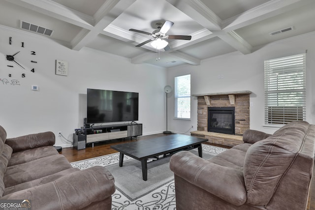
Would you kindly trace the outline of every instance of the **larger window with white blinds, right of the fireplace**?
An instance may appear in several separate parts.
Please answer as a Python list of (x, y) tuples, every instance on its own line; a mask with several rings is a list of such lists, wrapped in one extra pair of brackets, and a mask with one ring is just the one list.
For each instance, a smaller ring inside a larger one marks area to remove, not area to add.
[(306, 118), (306, 55), (265, 60), (265, 124)]

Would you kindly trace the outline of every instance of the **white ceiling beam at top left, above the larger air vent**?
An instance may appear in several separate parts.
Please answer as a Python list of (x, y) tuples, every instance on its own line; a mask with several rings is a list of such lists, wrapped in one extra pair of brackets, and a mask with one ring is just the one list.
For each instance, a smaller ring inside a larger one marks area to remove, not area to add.
[(52, 0), (7, 0), (58, 20), (92, 30), (94, 18)]

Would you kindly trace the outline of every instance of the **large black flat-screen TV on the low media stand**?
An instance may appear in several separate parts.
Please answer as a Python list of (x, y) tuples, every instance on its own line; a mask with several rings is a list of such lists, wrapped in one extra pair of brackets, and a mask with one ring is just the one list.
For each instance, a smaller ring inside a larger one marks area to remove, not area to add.
[(88, 89), (87, 123), (138, 120), (138, 104), (138, 92)]

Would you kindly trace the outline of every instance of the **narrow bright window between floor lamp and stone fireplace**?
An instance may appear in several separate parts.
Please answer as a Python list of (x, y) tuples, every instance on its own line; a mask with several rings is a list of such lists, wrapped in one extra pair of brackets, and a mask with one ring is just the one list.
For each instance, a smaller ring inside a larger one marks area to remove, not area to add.
[(175, 118), (190, 119), (190, 74), (175, 77)]

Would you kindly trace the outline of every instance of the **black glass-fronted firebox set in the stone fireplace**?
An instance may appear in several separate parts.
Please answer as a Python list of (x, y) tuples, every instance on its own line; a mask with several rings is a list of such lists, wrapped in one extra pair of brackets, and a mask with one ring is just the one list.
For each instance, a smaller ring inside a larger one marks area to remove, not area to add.
[(208, 107), (208, 132), (235, 134), (235, 107)]

